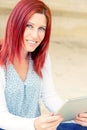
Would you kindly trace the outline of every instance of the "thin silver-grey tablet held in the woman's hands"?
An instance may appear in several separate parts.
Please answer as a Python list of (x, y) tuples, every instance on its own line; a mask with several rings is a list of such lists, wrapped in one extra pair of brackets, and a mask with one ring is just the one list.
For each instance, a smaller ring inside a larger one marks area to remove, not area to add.
[(66, 100), (57, 114), (61, 114), (64, 121), (69, 121), (82, 112), (87, 112), (87, 97)]

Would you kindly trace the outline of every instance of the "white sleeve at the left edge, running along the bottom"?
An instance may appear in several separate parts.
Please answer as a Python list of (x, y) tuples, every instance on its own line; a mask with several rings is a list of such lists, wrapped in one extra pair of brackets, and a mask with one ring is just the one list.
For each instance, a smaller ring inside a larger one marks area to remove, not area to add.
[(0, 128), (5, 130), (35, 130), (35, 118), (22, 118), (9, 113), (5, 95), (5, 75), (4, 70), (0, 67)]

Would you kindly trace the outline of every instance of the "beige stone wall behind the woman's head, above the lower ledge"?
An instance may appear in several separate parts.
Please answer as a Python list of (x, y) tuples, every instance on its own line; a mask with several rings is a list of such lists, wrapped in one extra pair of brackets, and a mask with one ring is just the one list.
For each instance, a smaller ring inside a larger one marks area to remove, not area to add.
[[(0, 38), (11, 9), (18, 0), (0, 0)], [(87, 41), (87, 0), (43, 0), (52, 10), (52, 40), (58, 42)]]

